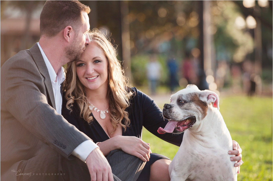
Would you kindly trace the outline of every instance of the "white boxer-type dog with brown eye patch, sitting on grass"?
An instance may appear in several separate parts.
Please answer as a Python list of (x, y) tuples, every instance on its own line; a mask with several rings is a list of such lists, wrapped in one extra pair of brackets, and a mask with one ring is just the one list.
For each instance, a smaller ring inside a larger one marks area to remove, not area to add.
[(236, 181), (238, 167), (230, 161), (232, 139), (219, 112), (216, 93), (196, 85), (171, 96), (163, 116), (170, 121), (158, 133), (185, 131), (179, 150), (169, 165), (171, 181)]

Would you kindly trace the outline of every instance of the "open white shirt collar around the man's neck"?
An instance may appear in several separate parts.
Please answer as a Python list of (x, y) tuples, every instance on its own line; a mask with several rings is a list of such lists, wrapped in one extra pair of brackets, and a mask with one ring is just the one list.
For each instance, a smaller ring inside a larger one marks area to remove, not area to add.
[(44, 54), (44, 51), (43, 51), (43, 49), (41, 48), (39, 42), (38, 42), (38, 47), (39, 47), (39, 49), (40, 49), (40, 51), (41, 51), (41, 54), (42, 54), (42, 56), (43, 56), (44, 63), (46, 63), (46, 68), (48, 69), (48, 73), (49, 73), (49, 76), (50, 76), (51, 81), (54, 81), (54, 82), (55, 82), (56, 77), (57, 77), (57, 81), (61, 84), (61, 83), (64, 81), (64, 79), (65, 79), (63, 67), (61, 67), (61, 68), (58, 70), (57, 75), (56, 75), (56, 73), (55, 73), (55, 71), (54, 71), (54, 69), (53, 69), (51, 63), (49, 62), (48, 58), (46, 57), (46, 54)]

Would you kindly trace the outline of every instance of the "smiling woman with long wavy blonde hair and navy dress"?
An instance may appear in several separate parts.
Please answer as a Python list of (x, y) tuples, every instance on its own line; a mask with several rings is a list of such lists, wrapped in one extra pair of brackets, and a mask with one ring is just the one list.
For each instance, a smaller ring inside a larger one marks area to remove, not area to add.
[[(141, 140), (144, 126), (154, 135), (180, 146), (183, 134), (158, 134), (167, 121), (160, 108), (146, 94), (126, 84), (124, 71), (110, 41), (98, 30), (90, 33), (90, 45), (80, 60), (67, 64), (63, 116), (89, 136), (104, 155), (121, 149), (148, 161), (139, 180), (170, 180), (170, 159), (152, 154)], [(241, 149), (232, 151), (241, 160)], [(238, 165), (241, 165), (238, 162)]]

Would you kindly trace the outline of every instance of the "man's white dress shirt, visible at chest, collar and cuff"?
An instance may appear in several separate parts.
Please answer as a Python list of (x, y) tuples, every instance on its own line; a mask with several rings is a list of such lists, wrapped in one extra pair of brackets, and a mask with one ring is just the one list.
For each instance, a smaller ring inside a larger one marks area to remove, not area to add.
[[(46, 57), (46, 54), (44, 53), (43, 49), (41, 48), (39, 42), (38, 42), (38, 47), (40, 48), (41, 54), (43, 56), (44, 62), (46, 63), (46, 67), (49, 72), (49, 76), (51, 79), (51, 84), (52, 84), (52, 89), (54, 93), (54, 99), (55, 99), (55, 106), (56, 106), (56, 111), (58, 114), (62, 113), (62, 95), (61, 95), (61, 83), (63, 83), (65, 77), (64, 77), (64, 69), (61, 67), (57, 74), (54, 71), (51, 63), (49, 62), (48, 58)], [(93, 141), (91, 140), (86, 140), (79, 144), (72, 152), (72, 155), (78, 157), (82, 161), (85, 161), (87, 156), (95, 149), (99, 148)]]

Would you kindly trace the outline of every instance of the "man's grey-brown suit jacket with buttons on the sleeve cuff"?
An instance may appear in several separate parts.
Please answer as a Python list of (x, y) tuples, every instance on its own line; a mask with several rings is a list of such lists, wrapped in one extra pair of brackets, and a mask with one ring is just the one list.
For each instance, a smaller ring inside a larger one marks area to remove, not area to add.
[(11, 170), (48, 146), (70, 159), (80, 143), (91, 140), (56, 112), (48, 69), (37, 43), (8, 59), (0, 78), (1, 179), (16, 180)]

